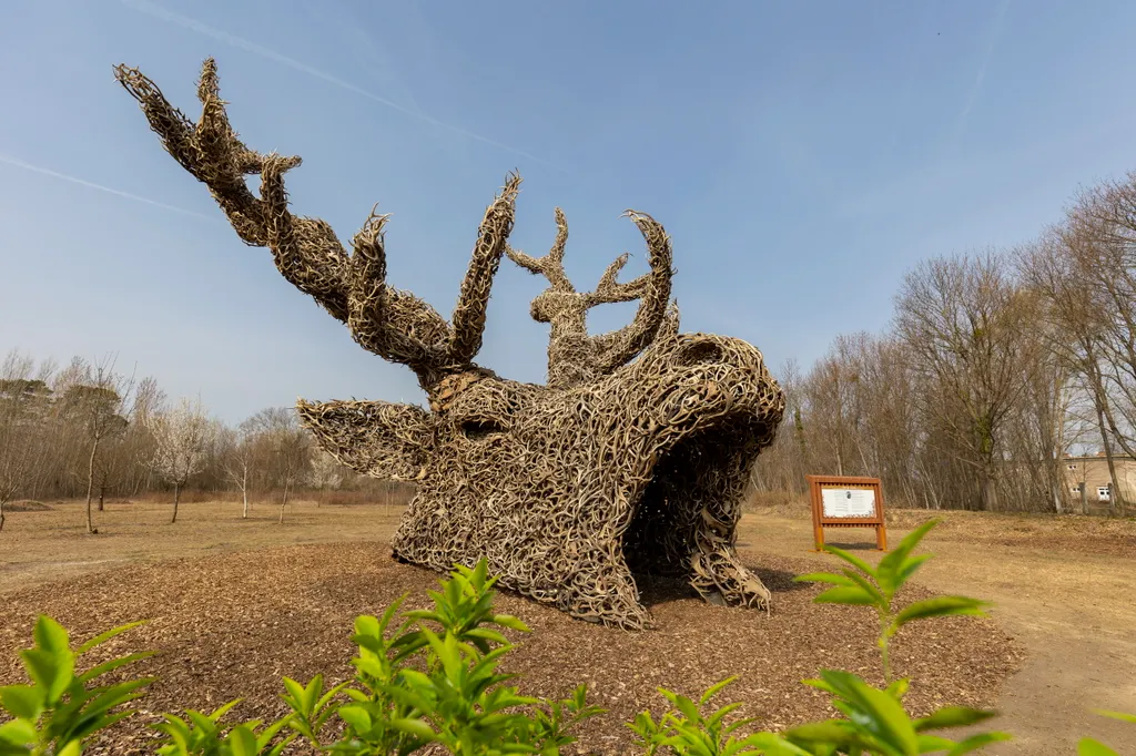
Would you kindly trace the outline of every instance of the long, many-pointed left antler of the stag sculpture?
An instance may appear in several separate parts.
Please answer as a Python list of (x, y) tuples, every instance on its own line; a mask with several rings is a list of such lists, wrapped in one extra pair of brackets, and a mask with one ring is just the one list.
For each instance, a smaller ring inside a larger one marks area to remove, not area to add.
[[(425, 301), (386, 284), (387, 216), (371, 211), (349, 257), (327, 222), (289, 212), (284, 174), (299, 166), (300, 158), (261, 154), (241, 142), (228, 123), (212, 58), (201, 68), (197, 124), (136, 68), (116, 66), (115, 77), (139, 101), (166, 151), (209, 187), (241, 240), (269, 247), (284, 278), (345, 322), (364, 348), (409, 366), (426, 389), (446, 373), (473, 367), (490, 287), (512, 230), (519, 176), (510, 174), (485, 211), (451, 325)], [(259, 198), (244, 183), (250, 174), (260, 174)]]

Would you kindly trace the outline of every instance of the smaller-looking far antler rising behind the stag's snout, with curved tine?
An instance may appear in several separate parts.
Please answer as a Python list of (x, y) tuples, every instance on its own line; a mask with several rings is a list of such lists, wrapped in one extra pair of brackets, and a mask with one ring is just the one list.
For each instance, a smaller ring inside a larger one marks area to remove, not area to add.
[[(557, 208), (557, 241), (543, 258), (532, 258), (508, 249), (509, 259), (533, 274), (542, 274), (550, 287), (533, 300), (533, 318), (551, 322), (549, 337), (549, 385), (566, 388), (610, 373), (642, 352), (665, 326), (667, 333), (678, 329), (678, 309), (668, 310), (674, 270), (670, 238), (662, 225), (651, 216), (628, 210), (646, 241), (651, 271), (620, 284), (619, 272), (628, 254), (619, 255), (600, 277), (594, 292), (576, 292), (565, 274), (563, 255), (568, 241), (568, 222)], [(635, 319), (624, 328), (601, 336), (588, 336), (587, 311), (599, 304), (640, 300)]]

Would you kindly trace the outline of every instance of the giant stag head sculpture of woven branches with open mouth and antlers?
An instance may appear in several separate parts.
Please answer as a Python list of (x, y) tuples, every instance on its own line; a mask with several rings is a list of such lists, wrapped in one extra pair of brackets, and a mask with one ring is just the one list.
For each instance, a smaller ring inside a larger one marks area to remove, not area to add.
[[(396, 558), (445, 571), (484, 556), (503, 587), (628, 629), (651, 624), (636, 576), (678, 577), (707, 600), (768, 607), (769, 591), (734, 543), (750, 468), (772, 442), (784, 396), (750, 344), (678, 333), (671, 246), (660, 224), (627, 213), (646, 242), (650, 272), (619, 283), (624, 255), (594, 292), (577, 292), (565, 275), (568, 229), (559, 209), (549, 254), (509, 246), (520, 186), (510, 175), (485, 211), (448, 322), (386, 283), (385, 216), (371, 211), (349, 254), (326, 222), (290, 212), (284, 174), (300, 158), (261, 154), (240, 141), (212, 59), (201, 73), (197, 124), (136, 69), (115, 73), (241, 240), (267, 246), (284, 278), (360, 346), (417, 375), (428, 410), (298, 402), (340, 462), (417, 484), (392, 539)], [(245, 184), (252, 174), (259, 196)], [(532, 304), (532, 316), (551, 325), (546, 386), (474, 363), (504, 257), (549, 282)], [(590, 308), (636, 300), (630, 325), (588, 335)]]

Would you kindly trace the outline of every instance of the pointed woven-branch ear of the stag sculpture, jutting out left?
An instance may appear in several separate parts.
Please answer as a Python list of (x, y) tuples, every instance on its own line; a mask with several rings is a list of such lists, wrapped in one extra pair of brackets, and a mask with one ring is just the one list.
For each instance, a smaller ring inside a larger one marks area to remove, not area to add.
[(303, 425), (341, 464), (373, 478), (420, 480), (434, 451), (434, 421), (414, 404), (296, 402)]

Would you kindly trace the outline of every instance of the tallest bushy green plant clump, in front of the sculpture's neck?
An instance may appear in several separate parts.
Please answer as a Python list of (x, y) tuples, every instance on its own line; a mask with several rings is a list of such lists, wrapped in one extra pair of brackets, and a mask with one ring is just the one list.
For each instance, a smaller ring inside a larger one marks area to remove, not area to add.
[[(586, 688), (548, 702), (521, 696), (506, 684), (513, 675), (498, 671), (513, 646), (495, 628), (528, 628), (493, 612), (495, 582), (484, 561), (457, 568), (441, 591), (429, 591), (434, 608), (403, 613), (391, 639), (403, 599), (382, 618), (356, 620), (358, 687), (344, 689), (351, 703), (337, 713), (348, 733), (333, 750), (408, 754), (440, 742), (453, 754), (557, 753), (575, 740), (569, 729), (601, 711), (587, 705)], [(419, 669), (407, 664), (412, 656)]]

